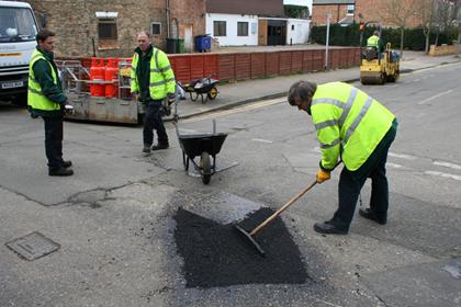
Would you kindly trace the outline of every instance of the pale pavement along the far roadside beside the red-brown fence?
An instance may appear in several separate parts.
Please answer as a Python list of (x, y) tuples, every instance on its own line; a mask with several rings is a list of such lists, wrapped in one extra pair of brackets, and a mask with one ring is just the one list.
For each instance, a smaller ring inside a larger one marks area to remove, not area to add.
[[(405, 50), (403, 58), (401, 59), (401, 73), (411, 73), (416, 70), (458, 61), (461, 61), (461, 57), (454, 55), (431, 57), (424, 52)], [(353, 82), (360, 80), (359, 73), (359, 68), (352, 67), (223, 83), (217, 87), (218, 94), (215, 100), (209, 100), (202, 103), (199, 98), (198, 101), (194, 102), (191, 101), (188, 95), (187, 100), (179, 101), (178, 114), (180, 118), (188, 118), (216, 110), (232, 109), (259, 100), (286, 96), (290, 86), (299, 80), (307, 80), (316, 83), (333, 81)], [(171, 116), (167, 117), (166, 121), (171, 121)]]

